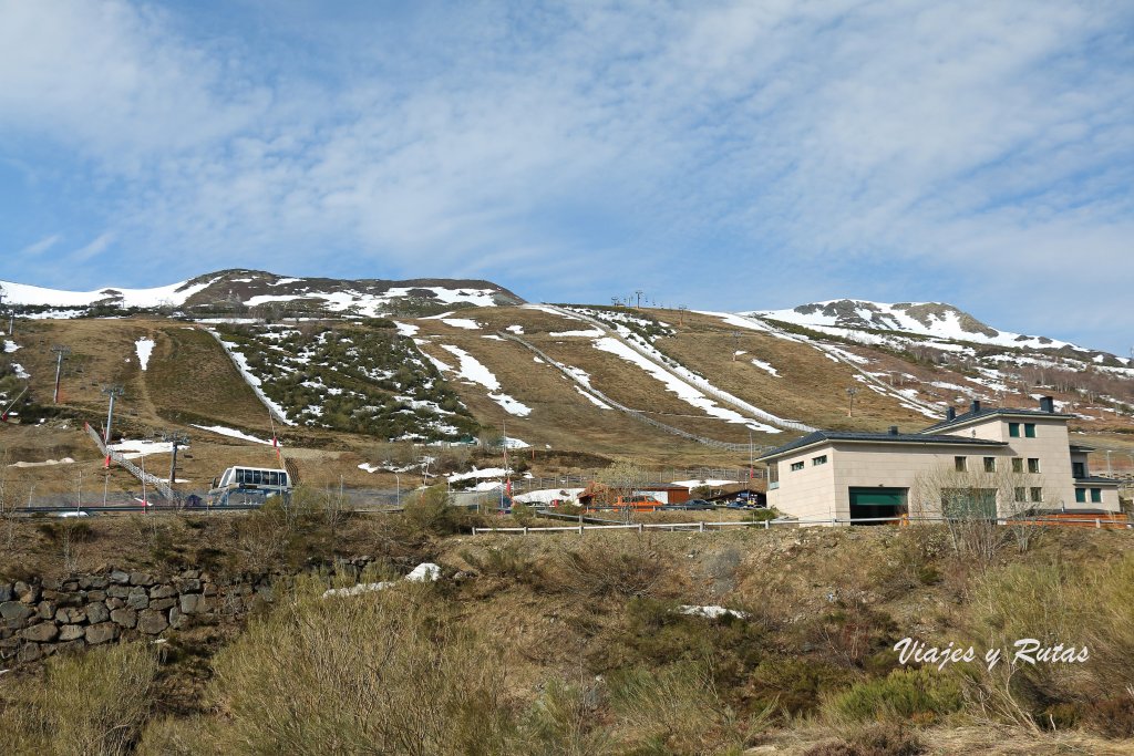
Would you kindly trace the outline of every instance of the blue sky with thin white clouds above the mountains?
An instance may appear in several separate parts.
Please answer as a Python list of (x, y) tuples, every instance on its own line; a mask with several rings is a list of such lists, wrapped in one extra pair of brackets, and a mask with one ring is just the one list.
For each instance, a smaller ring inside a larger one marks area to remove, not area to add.
[(1132, 37), (1105, 0), (0, 0), (0, 279), (943, 300), (1126, 354)]

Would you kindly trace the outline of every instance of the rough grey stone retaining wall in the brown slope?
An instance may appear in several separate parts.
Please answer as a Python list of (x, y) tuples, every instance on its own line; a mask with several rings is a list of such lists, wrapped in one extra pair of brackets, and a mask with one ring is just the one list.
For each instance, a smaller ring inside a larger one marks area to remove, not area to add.
[(229, 580), (201, 570), (159, 577), (118, 569), (0, 580), (0, 661), (32, 662), (59, 651), (238, 620), (256, 602), (271, 601), (272, 580), (271, 575)]

